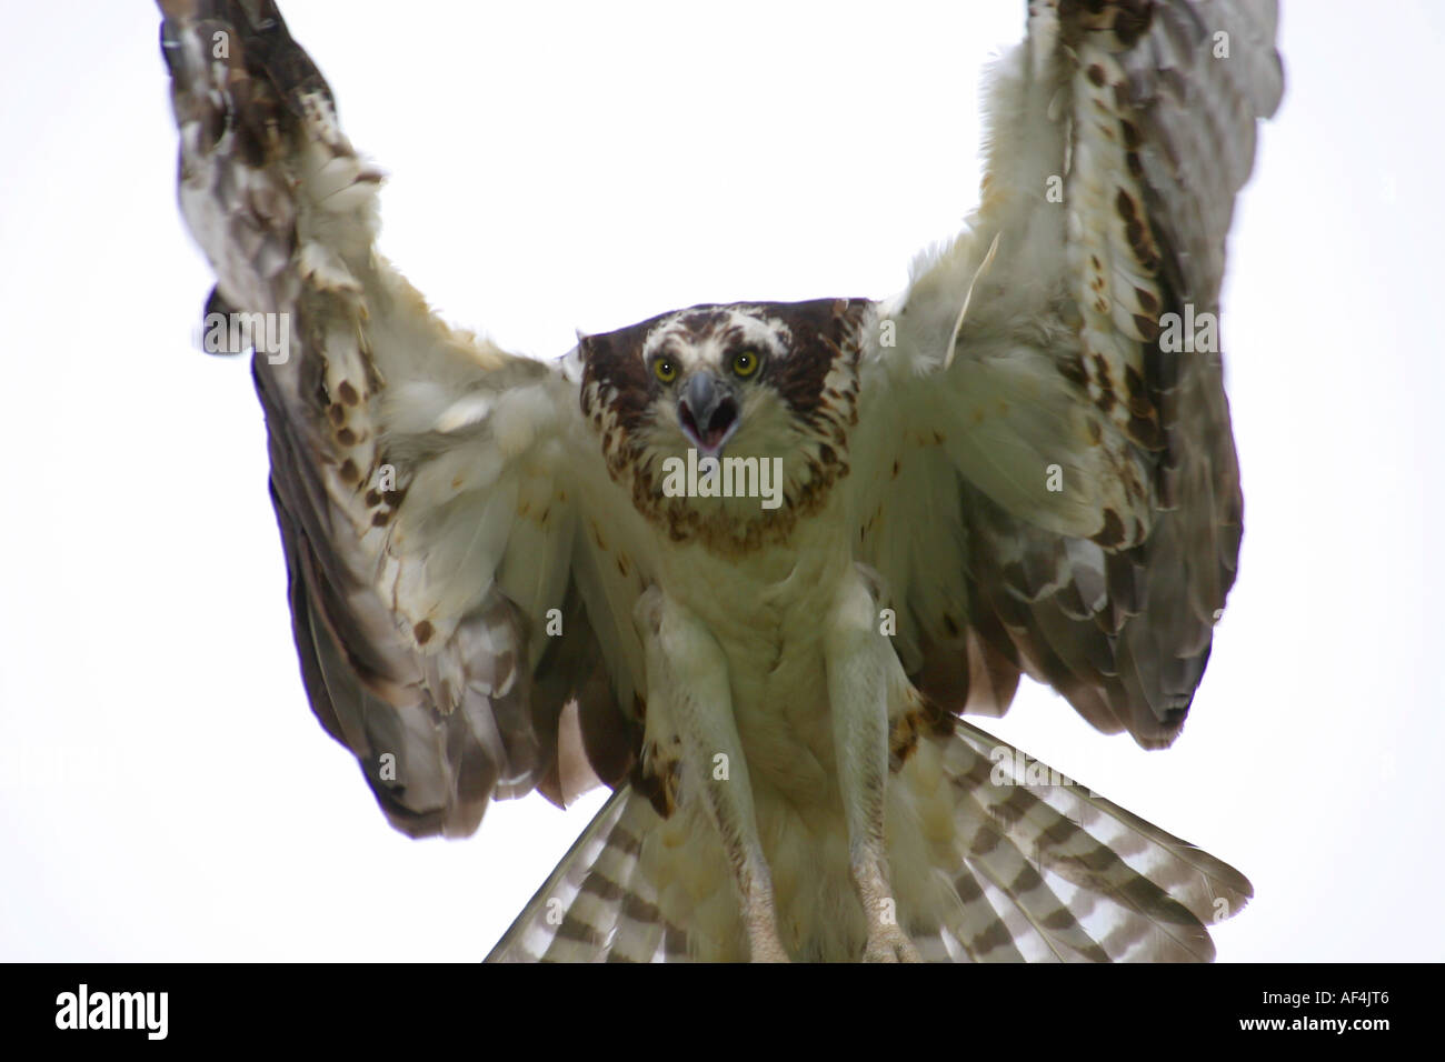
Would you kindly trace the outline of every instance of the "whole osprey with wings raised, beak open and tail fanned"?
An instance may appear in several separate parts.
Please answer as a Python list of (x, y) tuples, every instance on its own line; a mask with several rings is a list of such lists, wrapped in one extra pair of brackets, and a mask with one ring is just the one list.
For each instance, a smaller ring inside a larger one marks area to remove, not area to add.
[(1212, 958), (1238, 871), (962, 717), (1029, 675), (1146, 748), (1183, 725), (1240, 548), (1217, 314), (1273, 3), (1030, 0), (980, 205), (903, 292), (553, 361), (379, 256), (270, 0), (160, 7), (312, 711), (413, 837), (613, 790), (491, 958)]

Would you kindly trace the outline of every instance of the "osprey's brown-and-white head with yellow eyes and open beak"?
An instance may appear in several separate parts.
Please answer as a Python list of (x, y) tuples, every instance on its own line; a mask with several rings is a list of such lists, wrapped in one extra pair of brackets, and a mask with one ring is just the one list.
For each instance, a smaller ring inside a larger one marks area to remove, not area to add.
[[(644, 516), (668, 520), (675, 539), (756, 539), (785, 513), (790, 526), (847, 474), (867, 305), (702, 305), (582, 337), (582, 412), (613, 478)], [(708, 459), (749, 477), (747, 487), (731, 497), (705, 487), (679, 494), (668, 477), (681, 470), (695, 487), (692, 470)], [(751, 490), (772, 487), (775, 472), (773, 497)]]

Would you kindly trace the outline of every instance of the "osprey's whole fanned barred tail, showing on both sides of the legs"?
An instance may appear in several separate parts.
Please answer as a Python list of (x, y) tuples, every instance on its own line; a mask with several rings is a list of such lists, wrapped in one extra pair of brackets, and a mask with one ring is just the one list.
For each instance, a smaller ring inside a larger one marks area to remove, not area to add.
[[(1228, 864), (967, 722), (920, 741), (890, 789), (899, 918), (928, 961), (1208, 962), (1208, 926), (1253, 896)], [(620, 789), (487, 961), (686, 961), (691, 928), (663, 920), (640, 860), (659, 826)]]

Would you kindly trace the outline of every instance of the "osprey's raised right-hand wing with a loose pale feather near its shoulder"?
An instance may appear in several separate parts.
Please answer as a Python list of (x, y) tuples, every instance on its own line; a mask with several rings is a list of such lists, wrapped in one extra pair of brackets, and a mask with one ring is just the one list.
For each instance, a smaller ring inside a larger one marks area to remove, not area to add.
[(983, 198), (866, 354), (850, 480), (915, 682), (1001, 714), (1027, 672), (1144, 747), (1183, 725), (1243, 500), (1218, 354), (1274, 4), (1029, 4)]

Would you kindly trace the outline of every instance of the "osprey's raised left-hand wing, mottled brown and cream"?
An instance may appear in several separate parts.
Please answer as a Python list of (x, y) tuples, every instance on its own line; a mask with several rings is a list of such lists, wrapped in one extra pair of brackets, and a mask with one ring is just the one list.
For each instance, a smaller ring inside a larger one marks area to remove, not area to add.
[(208, 335), (254, 341), (312, 709), (412, 835), (617, 783), (647, 555), (616, 561), (637, 517), (582, 435), (575, 361), (448, 328), (377, 254), (380, 173), (273, 3), (160, 6)]

